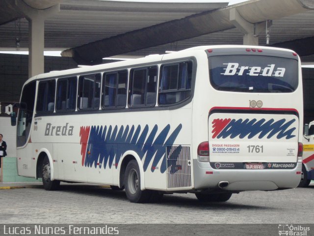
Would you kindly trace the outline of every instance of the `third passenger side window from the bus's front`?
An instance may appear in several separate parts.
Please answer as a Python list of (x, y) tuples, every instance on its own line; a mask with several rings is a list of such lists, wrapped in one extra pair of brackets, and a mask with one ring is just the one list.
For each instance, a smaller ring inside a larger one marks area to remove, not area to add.
[(101, 75), (82, 75), (78, 79), (78, 109), (98, 110), (100, 105)]

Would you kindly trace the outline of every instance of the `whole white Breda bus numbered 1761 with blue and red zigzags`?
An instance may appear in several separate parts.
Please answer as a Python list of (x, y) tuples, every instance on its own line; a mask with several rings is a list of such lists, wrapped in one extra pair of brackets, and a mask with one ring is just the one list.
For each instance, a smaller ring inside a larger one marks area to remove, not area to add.
[(18, 173), (46, 190), (85, 182), (136, 203), (174, 192), (215, 202), (300, 182), (302, 77), (290, 50), (201, 46), (41, 74), (19, 107)]

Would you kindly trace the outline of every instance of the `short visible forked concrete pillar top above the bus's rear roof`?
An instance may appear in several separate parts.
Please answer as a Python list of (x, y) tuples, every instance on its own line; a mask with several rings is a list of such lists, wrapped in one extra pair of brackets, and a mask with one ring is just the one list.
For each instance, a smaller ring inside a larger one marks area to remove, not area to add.
[(244, 34), (243, 45), (259, 45), (258, 34), (266, 30), (266, 22), (252, 24), (243, 19), (235, 8), (230, 9), (230, 22)]

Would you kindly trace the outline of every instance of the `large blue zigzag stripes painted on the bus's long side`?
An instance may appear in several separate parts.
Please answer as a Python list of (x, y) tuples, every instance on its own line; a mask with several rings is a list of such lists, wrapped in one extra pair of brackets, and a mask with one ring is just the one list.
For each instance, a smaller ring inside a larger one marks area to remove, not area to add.
[[(133, 150), (141, 160), (146, 154), (143, 165), (144, 171), (147, 170), (153, 157), (153, 166), (157, 166), (163, 157), (160, 172), (164, 173), (166, 171), (166, 157), (164, 155), (166, 146), (174, 144), (181, 129), (182, 124), (179, 124), (166, 140), (170, 131), (170, 124), (166, 125), (157, 137), (157, 125), (150, 133), (148, 125), (145, 125), (143, 130), (140, 125), (136, 129), (134, 125), (131, 128), (129, 125), (126, 127), (122, 125), (119, 130), (117, 125), (114, 128), (111, 125), (105, 127), (92, 126), (87, 144), (87, 150), (90, 151), (90, 154), (86, 153), (84, 166), (94, 166), (96, 168), (99, 162), (103, 168), (111, 168), (114, 159), (115, 163), (118, 163), (123, 153)], [(151, 171), (154, 172), (153, 169)]]

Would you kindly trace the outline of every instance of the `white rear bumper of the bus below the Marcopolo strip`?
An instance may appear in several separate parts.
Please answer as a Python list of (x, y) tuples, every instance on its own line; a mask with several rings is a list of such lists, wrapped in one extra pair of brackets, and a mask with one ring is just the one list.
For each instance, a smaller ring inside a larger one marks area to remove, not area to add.
[[(294, 169), (272, 170), (216, 170), (209, 163), (193, 160), (194, 188), (218, 188), (220, 181), (228, 181), (224, 190), (276, 190), (278, 188), (295, 188), (301, 179), (302, 163)], [(297, 174), (298, 173), (298, 174)]]

